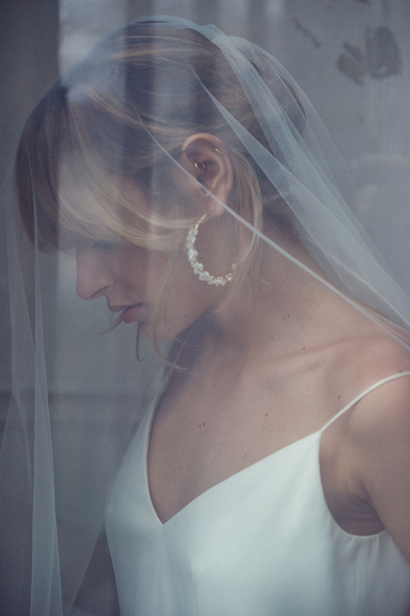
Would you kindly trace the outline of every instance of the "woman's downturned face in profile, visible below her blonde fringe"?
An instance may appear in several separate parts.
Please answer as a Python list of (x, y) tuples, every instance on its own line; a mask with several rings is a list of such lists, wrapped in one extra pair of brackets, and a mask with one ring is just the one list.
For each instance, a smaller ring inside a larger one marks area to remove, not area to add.
[[(138, 187), (133, 187), (132, 192), (136, 205), (146, 203)], [(215, 263), (215, 251), (209, 245), (213, 233), (205, 229), (206, 223), (203, 227), (202, 241), (198, 241), (199, 257), (205, 257), (205, 265), (209, 264), (211, 272), (215, 267), (218, 274), (224, 264), (218, 265), (219, 259)], [(211, 259), (207, 259), (207, 253), (211, 254)], [(125, 323), (141, 323), (144, 333), (152, 338), (152, 315), (167, 272), (168, 258), (167, 251), (157, 249), (116, 245), (103, 240), (77, 241), (77, 294), (87, 300), (104, 296), (109, 310), (119, 312)], [(172, 278), (164, 311), (157, 321), (157, 340), (176, 336), (215, 305), (224, 293), (223, 288), (210, 286), (197, 278), (184, 247), (178, 254)]]

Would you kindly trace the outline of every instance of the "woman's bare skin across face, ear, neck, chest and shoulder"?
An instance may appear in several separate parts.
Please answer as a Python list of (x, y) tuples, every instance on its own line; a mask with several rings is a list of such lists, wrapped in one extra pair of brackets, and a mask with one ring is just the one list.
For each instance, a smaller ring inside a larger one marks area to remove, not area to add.
[[(198, 217), (210, 214), (200, 227), (200, 260), (211, 273), (226, 272), (234, 241), (219, 201), (232, 188), (229, 156), (207, 134), (190, 137), (182, 150), (192, 204)], [(130, 190), (141, 203), (138, 187)], [(293, 238), (265, 231), (323, 275)], [(166, 259), (160, 251), (80, 241), (77, 293), (104, 295), (114, 310), (142, 302), (138, 320), (150, 336)], [(199, 281), (184, 251), (170, 289), (157, 338), (176, 336), (204, 313), (213, 317), (189, 373), (171, 375), (152, 424), (149, 487), (163, 522), (221, 480), (317, 431), (366, 387), (410, 368), (403, 347), (379, 326), (269, 246), (251, 285), (232, 299), (224, 301), (226, 288)], [(320, 465), (336, 522), (357, 535), (386, 528), (410, 562), (409, 400), (408, 377), (366, 396), (325, 431)]]

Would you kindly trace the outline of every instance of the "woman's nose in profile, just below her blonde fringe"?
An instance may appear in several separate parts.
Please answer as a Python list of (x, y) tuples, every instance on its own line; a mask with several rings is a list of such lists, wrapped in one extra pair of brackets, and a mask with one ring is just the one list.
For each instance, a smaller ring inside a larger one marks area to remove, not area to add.
[(81, 299), (95, 299), (106, 295), (114, 284), (114, 277), (101, 259), (100, 251), (76, 248), (77, 295)]

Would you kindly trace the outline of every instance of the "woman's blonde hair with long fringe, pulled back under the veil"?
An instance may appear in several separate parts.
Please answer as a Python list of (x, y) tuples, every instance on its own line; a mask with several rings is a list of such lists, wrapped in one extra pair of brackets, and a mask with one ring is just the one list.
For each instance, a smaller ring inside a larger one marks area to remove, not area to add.
[[(281, 101), (282, 107), (292, 110), (296, 102), (300, 114), (296, 95), (283, 84), (282, 79), (280, 91), (288, 100)], [(231, 159), (234, 186), (227, 205), (258, 230), (266, 220), (293, 230), (290, 209), (255, 168), (210, 94), (270, 150), (231, 65), (198, 31), (170, 23), (130, 23), (97, 46), (45, 95), (23, 130), (15, 170), (20, 213), (31, 240), (35, 217), (44, 251), (65, 248), (87, 229), (90, 238), (103, 234), (107, 241), (177, 254), (198, 213), (181, 198), (183, 189), (176, 188), (172, 171), (184, 139), (203, 131), (219, 137)], [(141, 188), (152, 204), (149, 214), (125, 198), (118, 177)], [(159, 231), (152, 233), (152, 227)], [(232, 293), (251, 272), (250, 257), (258, 245), (244, 225), (238, 224), (238, 234), (246, 258), (240, 259)], [(173, 259), (168, 261), (171, 271)], [(164, 308), (167, 280), (155, 322)]]

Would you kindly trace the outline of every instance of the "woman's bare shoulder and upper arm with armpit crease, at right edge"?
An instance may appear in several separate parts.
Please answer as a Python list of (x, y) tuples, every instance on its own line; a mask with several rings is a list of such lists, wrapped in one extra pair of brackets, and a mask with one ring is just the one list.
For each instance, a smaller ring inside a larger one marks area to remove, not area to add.
[(326, 431), (323, 487), (345, 530), (386, 528), (410, 562), (410, 354), (380, 333), (358, 339), (351, 351), (344, 378), (357, 402)]

